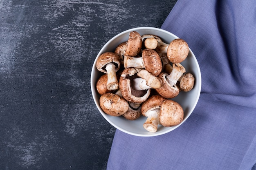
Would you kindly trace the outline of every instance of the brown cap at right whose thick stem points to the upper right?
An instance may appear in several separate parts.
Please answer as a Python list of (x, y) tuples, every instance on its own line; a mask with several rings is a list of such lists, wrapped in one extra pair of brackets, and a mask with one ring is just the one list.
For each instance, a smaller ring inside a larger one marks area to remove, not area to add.
[(159, 74), (159, 78), (162, 81), (162, 86), (160, 88), (155, 89), (157, 91), (157, 93), (165, 98), (174, 98), (176, 97), (179, 93), (180, 93), (180, 89), (177, 87), (176, 84), (174, 84), (173, 86), (171, 86), (167, 80), (166, 80), (166, 76), (168, 74), (167, 73), (160, 73)]

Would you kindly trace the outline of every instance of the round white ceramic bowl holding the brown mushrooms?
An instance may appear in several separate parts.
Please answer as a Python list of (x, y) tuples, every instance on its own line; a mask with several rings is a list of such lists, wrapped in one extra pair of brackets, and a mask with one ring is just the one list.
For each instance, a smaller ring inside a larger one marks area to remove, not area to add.
[(146, 121), (146, 117), (141, 116), (139, 119), (131, 121), (131, 120), (125, 119), (123, 116), (120, 116), (120, 117), (110, 116), (110, 115), (107, 115), (106, 113), (104, 113), (99, 105), (100, 95), (98, 94), (98, 92), (96, 90), (96, 83), (97, 83), (97, 80), (99, 79), (99, 77), (102, 75), (102, 73), (99, 72), (96, 68), (97, 58), (99, 57), (99, 55), (101, 55), (104, 52), (115, 51), (115, 48), (117, 47), (118, 44), (128, 40), (128, 36), (131, 31), (137, 31), (138, 33), (140, 33), (140, 35), (144, 35), (144, 34), (157, 35), (163, 40), (163, 42), (166, 42), (166, 43), (170, 43), (172, 40), (178, 38), (176, 35), (168, 32), (168, 31), (165, 31), (163, 29), (158, 29), (158, 28), (153, 28), (153, 27), (138, 27), (138, 28), (129, 29), (124, 32), (121, 32), (118, 35), (116, 35), (115, 37), (113, 37), (111, 40), (109, 40), (102, 47), (101, 51), (99, 51), (99, 53), (94, 61), (94, 64), (92, 66), (91, 90), (92, 90), (92, 96), (93, 96), (94, 102), (95, 102), (99, 112), (101, 113), (101, 115), (112, 126), (114, 126), (115, 128), (117, 128), (125, 133), (128, 133), (130, 135), (141, 136), (141, 137), (152, 137), (152, 136), (162, 135), (167, 132), (171, 132), (175, 128), (181, 126), (184, 123), (184, 121), (186, 121), (186, 119), (188, 119), (188, 117), (191, 115), (192, 111), (194, 110), (194, 108), (198, 102), (199, 96), (200, 96), (201, 73), (200, 73), (200, 68), (199, 68), (198, 62), (195, 58), (195, 55), (191, 51), (191, 49), (189, 49), (188, 57), (181, 64), (186, 68), (186, 72), (190, 72), (194, 75), (195, 85), (191, 91), (180, 92), (180, 94), (177, 97), (172, 99), (172, 100), (178, 102), (184, 110), (184, 120), (179, 125), (172, 126), (169, 128), (158, 125), (157, 132), (148, 132), (147, 130), (145, 130), (143, 128), (143, 124)]

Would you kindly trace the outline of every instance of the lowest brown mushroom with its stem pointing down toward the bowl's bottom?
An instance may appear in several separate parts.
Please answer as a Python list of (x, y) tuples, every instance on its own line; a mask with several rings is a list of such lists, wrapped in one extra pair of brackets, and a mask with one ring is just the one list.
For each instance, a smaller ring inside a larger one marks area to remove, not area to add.
[(146, 102), (141, 105), (141, 114), (147, 117), (143, 127), (149, 132), (156, 132), (159, 124), (160, 107), (166, 98), (160, 95), (149, 97)]

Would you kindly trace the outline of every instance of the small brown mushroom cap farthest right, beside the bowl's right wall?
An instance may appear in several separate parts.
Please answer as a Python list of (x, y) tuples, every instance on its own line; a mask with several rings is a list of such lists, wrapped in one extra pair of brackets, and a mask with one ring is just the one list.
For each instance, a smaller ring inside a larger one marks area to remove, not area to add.
[(195, 83), (195, 77), (191, 73), (186, 73), (180, 80), (180, 90), (188, 92), (191, 91)]

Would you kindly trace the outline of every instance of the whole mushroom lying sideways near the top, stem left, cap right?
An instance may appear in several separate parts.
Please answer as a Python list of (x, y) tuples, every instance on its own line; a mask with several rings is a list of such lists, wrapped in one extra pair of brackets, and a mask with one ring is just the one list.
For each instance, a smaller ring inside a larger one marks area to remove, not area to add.
[(162, 71), (162, 62), (155, 50), (144, 49), (141, 57), (124, 56), (124, 68), (145, 68), (149, 73), (157, 76)]

